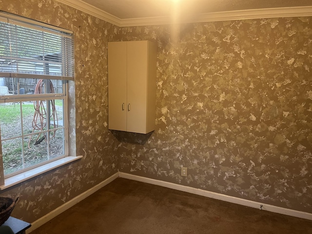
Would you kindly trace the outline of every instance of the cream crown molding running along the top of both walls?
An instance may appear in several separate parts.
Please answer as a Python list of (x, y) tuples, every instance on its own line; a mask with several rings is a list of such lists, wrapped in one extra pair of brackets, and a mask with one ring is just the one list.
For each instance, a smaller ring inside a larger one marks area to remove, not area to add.
[[(135, 18), (135, 19), (120, 19), (103, 10), (98, 9), (81, 0), (57, 0), (80, 11), (88, 13), (98, 19), (113, 23), (119, 27), (127, 26), (146, 26), (146, 25), (163, 25), (171, 24), (171, 17), (149, 17), (149, 18)], [(280, 7), (280, 8), (265, 8), (265, 9), (251, 9), (238, 11), (225, 11), (198, 14), (194, 17), (183, 19), (181, 23), (196, 23), (196, 22), (212, 22), (212, 21), (226, 21), (226, 20), (247, 20), (260, 18), (278, 18), (278, 17), (304, 17), (312, 16), (312, 6), (299, 7)]]

